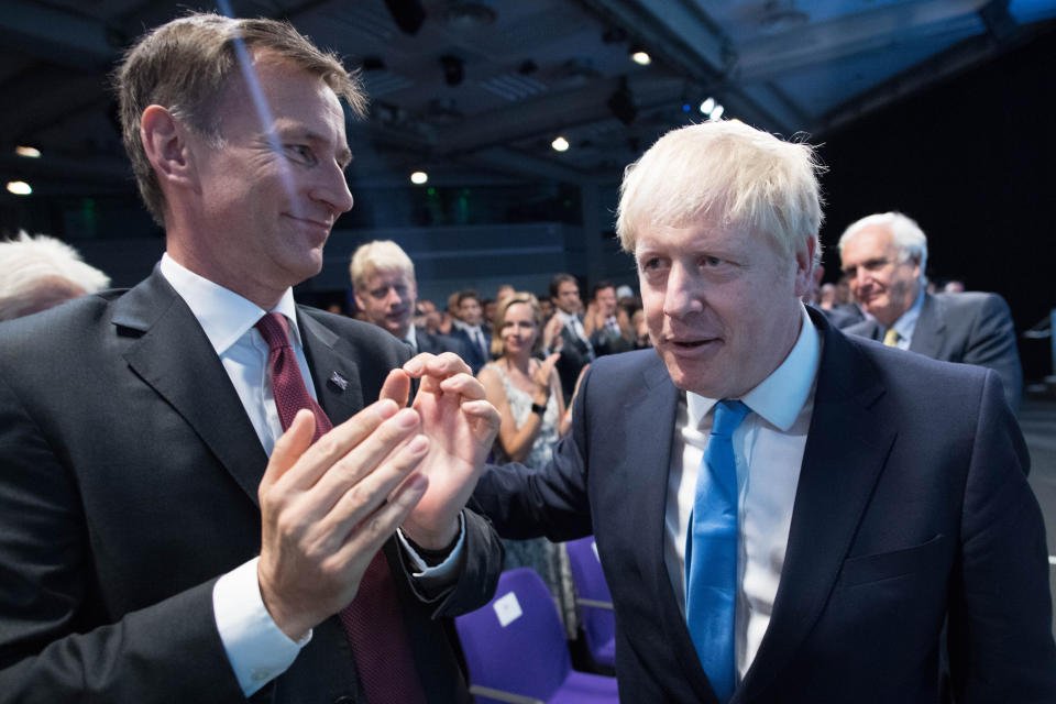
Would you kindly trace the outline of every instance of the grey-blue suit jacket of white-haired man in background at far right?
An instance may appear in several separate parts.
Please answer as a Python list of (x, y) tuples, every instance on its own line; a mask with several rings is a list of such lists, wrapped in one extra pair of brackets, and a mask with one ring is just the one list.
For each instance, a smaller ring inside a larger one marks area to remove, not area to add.
[[(882, 340), (884, 327), (864, 320), (845, 332)], [(1023, 367), (1008, 304), (997, 294), (924, 294), (910, 352), (933, 360), (989, 366), (1001, 377), (1004, 396), (1019, 410)]]

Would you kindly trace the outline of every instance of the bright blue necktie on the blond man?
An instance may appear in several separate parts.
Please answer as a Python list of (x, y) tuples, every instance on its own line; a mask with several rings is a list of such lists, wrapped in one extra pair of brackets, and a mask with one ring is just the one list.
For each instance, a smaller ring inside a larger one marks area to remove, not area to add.
[(729, 700), (737, 682), (737, 464), (730, 440), (749, 411), (739, 400), (715, 405), (685, 539), (685, 620), (701, 666), (721, 702)]

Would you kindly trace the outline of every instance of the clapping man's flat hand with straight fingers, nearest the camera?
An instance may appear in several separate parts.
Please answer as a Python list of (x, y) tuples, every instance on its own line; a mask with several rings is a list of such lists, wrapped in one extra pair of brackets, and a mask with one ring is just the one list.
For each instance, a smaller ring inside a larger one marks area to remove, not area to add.
[(382, 544), (426, 492), (415, 473), (429, 449), (418, 414), (380, 400), (311, 442), (311, 411), (275, 443), (257, 490), (257, 580), (293, 640), (346, 606)]

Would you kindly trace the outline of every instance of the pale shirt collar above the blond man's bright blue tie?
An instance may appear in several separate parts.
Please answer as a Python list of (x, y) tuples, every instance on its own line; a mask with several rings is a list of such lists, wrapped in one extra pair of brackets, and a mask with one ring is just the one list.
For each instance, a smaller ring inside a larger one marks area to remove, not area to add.
[[(745, 394), (741, 400), (767, 422), (788, 431), (795, 422), (803, 404), (811, 395), (817, 366), (821, 363), (821, 343), (818, 332), (811, 322), (806, 307), (801, 305), (803, 321), (800, 337), (784, 362), (770, 376), (762, 380), (754, 389)], [(692, 427), (698, 428), (701, 420), (719, 402), (686, 392), (686, 409)]]

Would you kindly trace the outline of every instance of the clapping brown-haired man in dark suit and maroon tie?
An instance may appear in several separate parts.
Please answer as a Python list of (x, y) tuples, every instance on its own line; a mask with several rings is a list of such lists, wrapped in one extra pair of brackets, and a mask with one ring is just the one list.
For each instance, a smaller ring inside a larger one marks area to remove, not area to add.
[(355, 77), (190, 14), (117, 87), (166, 251), (3, 323), (0, 702), (468, 702), (449, 617), (502, 569), (462, 510), (498, 414), (454, 355), (294, 300), (352, 207)]

